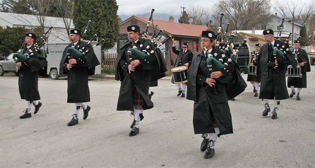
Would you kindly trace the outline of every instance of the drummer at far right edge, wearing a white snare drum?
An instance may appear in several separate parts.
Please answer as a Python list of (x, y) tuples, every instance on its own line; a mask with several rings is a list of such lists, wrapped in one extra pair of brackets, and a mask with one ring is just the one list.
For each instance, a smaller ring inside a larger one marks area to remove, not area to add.
[(294, 41), (292, 52), (294, 52), (293, 55), (296, 54), (297, 62), (301, 66), (302, 78), (288, 77), (288, 87), (292, 89), (289, 97), (292, 98), (295, 95), (295, 87), (297, 87), (296, 100), (300, 100), (301, 89), (306, 88), (306, 72), (310, 72), (310, 64), (306, 51), (300, 48), (299, 40)]

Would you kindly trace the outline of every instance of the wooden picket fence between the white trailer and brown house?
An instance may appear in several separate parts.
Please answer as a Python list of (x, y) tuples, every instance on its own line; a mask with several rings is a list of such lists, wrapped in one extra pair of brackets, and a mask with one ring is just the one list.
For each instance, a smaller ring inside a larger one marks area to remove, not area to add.
[(104, 53), (102, 57), (102, 73), (115, 73), (117, 53)]

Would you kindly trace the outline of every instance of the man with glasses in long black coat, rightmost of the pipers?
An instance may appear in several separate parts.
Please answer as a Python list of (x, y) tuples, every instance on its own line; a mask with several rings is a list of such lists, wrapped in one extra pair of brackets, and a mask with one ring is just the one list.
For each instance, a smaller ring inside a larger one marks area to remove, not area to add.
[(263, 31), (263, 34), (267, 43), (261, 47), (258, 56), (257, 74), (261, 81), (259, 98), (265, 102), (265, 110), (262, 114), (264, 117), (270, 112), (268, 100), (274, 100), (271, 118), (277, 119), (280, 100), (289, 98), (285, 83), (286, 61), (282, 58), (274, 59), (273, 48), (280, 44), (280, 41), (275, 40), (274, 31), (267, 29)]

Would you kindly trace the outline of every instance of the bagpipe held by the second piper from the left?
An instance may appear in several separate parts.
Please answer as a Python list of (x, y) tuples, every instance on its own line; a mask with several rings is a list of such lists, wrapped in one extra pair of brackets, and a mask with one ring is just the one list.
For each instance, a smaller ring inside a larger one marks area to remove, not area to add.
[[(87, 32), (87, 29), (89, 27), (91, 23), (91, 20), (88, 21), (88, 24), (87, 26), (85, 27), (85, 30), (82, 34), (82, 38), (85, 36), (86, 32)], [(82, 40), (81, 38), (81, 40)], [(89, 51), (91, 51), (94, 47), (100, 45), (102, 42), (105, 41), (105, 39), (103, 38), (102, 40), (100, 40), (99, 42), (97, 42), (96, 44), (94, 44), (93, 46), (91, 46), (91, 42), (92, 40), (96, 39), (97, 38), (97, 35), (94, 34), (93, 37), (87, 41), (87, 43), (80, 48), (80, 46), (78, 45), (76, 48), (75, 47), (69, 47), (67, 49), (67, 56), (68, 56), (68, 59), (82, 59), (84, 58), (84, 55), (86, 55)], [(91, 47), (90, 47), (91, 46)]]

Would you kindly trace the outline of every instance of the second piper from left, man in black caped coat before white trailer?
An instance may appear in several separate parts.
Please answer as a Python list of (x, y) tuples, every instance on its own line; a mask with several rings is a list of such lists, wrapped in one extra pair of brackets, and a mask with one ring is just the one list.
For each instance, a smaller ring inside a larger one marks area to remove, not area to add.
[[(83, 108), (83, 120), (87, 119), (89, 111), (91, 110), (91, 107), (86, 104), (86, 102), (90, 101), (88, 76), (94, 75), (95, 67), (100, 64), (93, 49), (90, 49), (81, 59), (69, 58), (67, 55), (67, 49), (69, 47), (81, 49), (87, 44), (87, 42), (81, 41), (80, 34), (80, 30), (70, 30), (69, 39), (71, 44), (66, 46), (62, 53), (59, 68), (60, 74), (68, 75), (67, 102), (74, 103), (75, 105), (75, 113), (72, 115), (72, 119), (68, 123), (68, 126), (79, 124), (78, 115), (81, 107)], [(91, 44), (87, 45), (87, 48), (91, 47)]]

